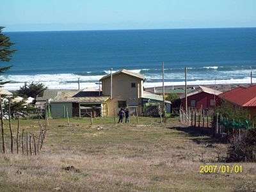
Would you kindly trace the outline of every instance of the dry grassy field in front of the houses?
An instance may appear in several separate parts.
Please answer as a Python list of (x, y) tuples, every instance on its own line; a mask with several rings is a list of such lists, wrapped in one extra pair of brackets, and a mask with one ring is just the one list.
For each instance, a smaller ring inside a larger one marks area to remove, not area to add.
[[(0, 155), (1, 191), (255, 191), (256, 166), (242, 173), (199, 173), (201, 164), (222, 165), (227, 145), (184, 127), (177, 119), (113, 118), (49, 120), (38, 156)], [(6, 147), (10, 134), (5, 124)], [(16, 136), (17, 122), (13, 122)], [(36, 120), (20, 129), (37, 132)], [(16, 146), (16, 143), (15, 143)], [(16, 147), (15, 147), (16, 148)], [(1, 151), (1, 150), (0, 150)], [(229, 163), (230, 166), (237, 163)], [(74, 166), (70, 170), (68, 166)]]

